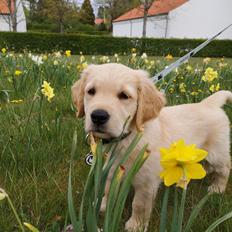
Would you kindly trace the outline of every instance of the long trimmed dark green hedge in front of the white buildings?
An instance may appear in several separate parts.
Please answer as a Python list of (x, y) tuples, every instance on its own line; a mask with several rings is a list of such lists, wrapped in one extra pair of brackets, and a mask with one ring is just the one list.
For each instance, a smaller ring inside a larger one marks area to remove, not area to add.
[[(168, 53), (182, 56), (204, 40), (199, 39), (139, 39), (98, 35), (47, 34), (47, 33), (0, 33), (0, 47), (8, 47), (16, 52), (25, 49), (32, 52), (51, 52), (70, 49), (73, 54), (112, 55), (130, 53), (136, 48), (139, 53), (152, 56)], [(231, 40), (215, 40), (198, 53), (202, 57), (232, 57)]]

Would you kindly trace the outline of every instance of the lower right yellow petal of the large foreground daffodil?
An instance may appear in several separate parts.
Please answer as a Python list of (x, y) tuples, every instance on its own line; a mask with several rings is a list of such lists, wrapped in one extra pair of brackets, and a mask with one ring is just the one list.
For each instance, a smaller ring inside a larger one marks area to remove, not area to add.
[(201, 164), (186, 164), (185, 171), (188, 179), (202, 179), (206, 176), (206, 171)]

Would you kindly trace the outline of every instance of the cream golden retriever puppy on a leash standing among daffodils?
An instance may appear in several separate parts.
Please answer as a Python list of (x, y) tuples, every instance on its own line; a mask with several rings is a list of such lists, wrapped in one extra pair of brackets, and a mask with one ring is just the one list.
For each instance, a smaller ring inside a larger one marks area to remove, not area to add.
[[(178, 139), (208, 151), (206, 159), (216, 174), (209, 191), (225, 191), (231, 168), (230, 127), (220, 107), (227, 100), (232, 101), (231, 92), (217, 92), (200, 103), (164, 107), (163, 94), (154, 87), (145, 71), (121, 64), (103, 64), (87, 67), (73, 85), (72, 95), (77, 116), (85, 116), (86, 132), (93, 132), (96, 137), (117, 138), (130, 116), (119, 151), (126, 149), (137, 131), (143, 129), (142, 139), (125, 164), (128, 170), (141, 148), (149, 144), (151, 154), (133, 181), (135, 196), (127, 230), (148, 226), (152, 202), (161, 182), (159, 148), (168, 147)], [(114, 167), (108, 177), (102, 211), (106, 207), (113, 171)]]

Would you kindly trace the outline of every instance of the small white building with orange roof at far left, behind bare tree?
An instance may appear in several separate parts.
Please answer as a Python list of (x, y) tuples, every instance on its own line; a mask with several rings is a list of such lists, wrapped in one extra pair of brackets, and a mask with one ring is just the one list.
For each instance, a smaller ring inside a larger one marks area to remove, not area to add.
[[(9, 1), (11, 6), (9, 7)], [(16, 4), (14, 4), (16, 1)], [(26, 32), (26, 17), (21, 0), (0, 0), (0, 31), (13, 31), (12, 17), (16, 13), (17, 32)]]

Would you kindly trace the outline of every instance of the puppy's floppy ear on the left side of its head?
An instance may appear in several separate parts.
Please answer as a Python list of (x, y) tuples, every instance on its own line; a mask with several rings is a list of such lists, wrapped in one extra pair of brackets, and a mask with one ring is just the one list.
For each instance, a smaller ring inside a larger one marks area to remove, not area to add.
[(84, 95), (85, 95), (85, 86), (86, 79), (89, 75), (91, 66), (88, 66), (81, 74), (81, 78), (74, 83), (71, 88), (72, 91), (72, 100), (77, 108), (77, 117), (81, 118), (85, 115), (84, 110)]

